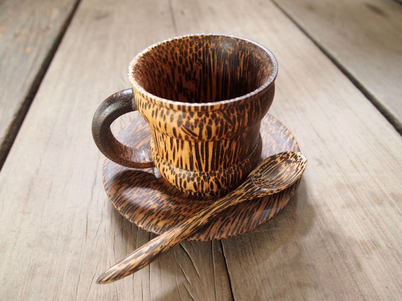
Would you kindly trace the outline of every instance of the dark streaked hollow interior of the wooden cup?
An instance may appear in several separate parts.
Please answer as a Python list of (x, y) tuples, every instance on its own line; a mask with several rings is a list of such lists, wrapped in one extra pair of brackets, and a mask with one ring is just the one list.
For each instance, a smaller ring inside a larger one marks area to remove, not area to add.
[(208, 103), (240, 97), (273, 81), (276, 61), (249, 40), (193, 35), (148, 48), (133, 60), (130, 72), (137, 85), (157, 97)]

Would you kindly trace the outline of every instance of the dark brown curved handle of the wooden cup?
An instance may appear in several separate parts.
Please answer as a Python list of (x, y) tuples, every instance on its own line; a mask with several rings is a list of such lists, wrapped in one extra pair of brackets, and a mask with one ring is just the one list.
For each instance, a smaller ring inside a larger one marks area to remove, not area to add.
[(113, 162), (131, 168), (154, 167), (150, 149), (137, 149), (119, 142), (110, 126), (118, 117), (138, 110), (133, 89), (109, 96), (96, 109), (92, 119), (92, 137), (97, 148)]

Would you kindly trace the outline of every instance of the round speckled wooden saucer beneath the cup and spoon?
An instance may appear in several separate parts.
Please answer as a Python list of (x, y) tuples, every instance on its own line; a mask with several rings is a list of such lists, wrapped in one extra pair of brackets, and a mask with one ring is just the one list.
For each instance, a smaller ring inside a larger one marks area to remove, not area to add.
[[(148, 124), (137, 118), (118, 135), (118, 139), (133, 147), (146, 148), (149, 147), (150, 136)], [(261, 136), (262, 159), (287, 150), (299, 150), (293, 135), (272, 115), (267, 114), (262, 120)], [(155, 234), (163, 233), (211, 202), (189, 199), (164, 181), (155, 177), (153, 169), (134, 170), (108, 159), (104, 163), (103, 182), (115, 208), (130, 222)], [(257, 228), (286, 206), (296, 193), (299, 182), (281, 193), (229, 208), (188, 240), (223, 239)]]

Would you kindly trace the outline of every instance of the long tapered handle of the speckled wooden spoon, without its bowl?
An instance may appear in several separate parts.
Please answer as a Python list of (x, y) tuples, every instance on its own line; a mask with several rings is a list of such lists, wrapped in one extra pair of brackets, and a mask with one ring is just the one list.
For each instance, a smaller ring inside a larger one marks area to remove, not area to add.
[(199, 211), (191, 218), (182, 221), (175, 227), (150, 240), (109, 268), (99, 276), (96, 282), (102, 284), (110, 283), (128, 276), (150, 264), (156, 257), (164, 254), (172, 247), (185, 240), (200, 227), (207, 224), (211, 218), (216, 216), (218, 213), (230, 206), (244, 201), (244, 198), (243, 200), (241, 197), (239, 198), (240, 192), (241, 190), (233, 191), (205, 209)]

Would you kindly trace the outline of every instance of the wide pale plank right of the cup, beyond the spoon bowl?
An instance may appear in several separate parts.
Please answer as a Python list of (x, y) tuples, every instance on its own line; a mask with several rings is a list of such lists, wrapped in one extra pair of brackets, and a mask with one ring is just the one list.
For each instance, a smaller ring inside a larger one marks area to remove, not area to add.
[(281, 215), (223, 241), (234, 298), (402, 297), (400, 135), (270, 2), (175, 7), (179, 34), (227, 32), (273, 51), (279, 73), (270, 112), (309, 158)]

